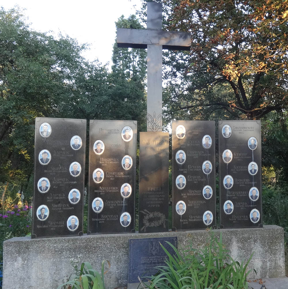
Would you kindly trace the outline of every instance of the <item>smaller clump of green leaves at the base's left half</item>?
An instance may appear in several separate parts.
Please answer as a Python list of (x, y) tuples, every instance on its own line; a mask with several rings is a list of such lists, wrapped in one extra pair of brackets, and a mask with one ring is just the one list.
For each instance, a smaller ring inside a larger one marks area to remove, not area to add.
[(76, 276), (72, 280), (60, 285), (58, 289), (105, 289), (104, 274), (107, 272), (104, 272), (105, 261), (109, 264), (110, 268), (110, 262), (103, 260), (101, 264), (101, 275), (98, 271), (92, 268), (89, 262), (82, 263), (79, 276)]

